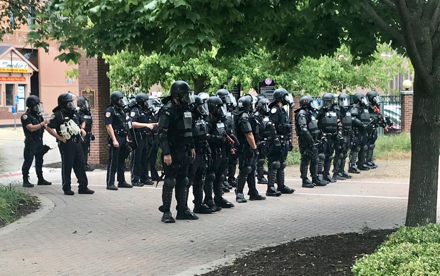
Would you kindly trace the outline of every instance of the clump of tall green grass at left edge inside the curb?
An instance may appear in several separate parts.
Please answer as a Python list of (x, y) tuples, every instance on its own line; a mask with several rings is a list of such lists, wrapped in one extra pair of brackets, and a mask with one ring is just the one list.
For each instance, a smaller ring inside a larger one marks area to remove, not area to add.
[(0, 184), (0, 221), (6, 223), (14, 221), (14, 212), (19, 204), (28, 202), (29, 199), (29, 194), (20, 188), (20, 183)]

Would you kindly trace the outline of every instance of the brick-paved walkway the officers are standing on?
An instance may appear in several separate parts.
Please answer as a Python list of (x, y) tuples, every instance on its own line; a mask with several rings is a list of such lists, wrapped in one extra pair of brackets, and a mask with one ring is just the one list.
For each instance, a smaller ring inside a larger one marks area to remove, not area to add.
[[(46, 175), (61, 183), (59, 171)], [(104, 176), (88, 173), (89, 183), (105, 185)], [(93, 186), (95, 195), (70, 197), (62, 195), (60, 185), (38, 186), (31, 191), (48, 197), (55, 208), (0, 236), (0, 275), (169, 276), (264, 244), (403, 224), (408, 185), (399, 182), (407, 180), (362, 181), (305, 189), (288, 180), (297, 194), (175, 224), (160, 221), (160, 186), (119, 191)], [(257, 188), (264, 193), (264, 185)], [(233, 193), (225, 197), (234, 199)]]

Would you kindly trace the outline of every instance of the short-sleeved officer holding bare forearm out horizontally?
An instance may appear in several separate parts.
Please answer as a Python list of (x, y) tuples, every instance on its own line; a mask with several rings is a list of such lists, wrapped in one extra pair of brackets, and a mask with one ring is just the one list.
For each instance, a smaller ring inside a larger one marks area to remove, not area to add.
[(137, 147), (132, 151), (130, 159), (132, 185), (142, 187), (153, 185), (154, 182), (148, 180), (148, 156), (150, 144), (151, 129), (154, 125), (148, 122), (147, 111), (150, 109), (148, 96), (145, 93), (138, 93), (135, 97), (136, 105), (130, 111), (130, 118), (135, 131)]

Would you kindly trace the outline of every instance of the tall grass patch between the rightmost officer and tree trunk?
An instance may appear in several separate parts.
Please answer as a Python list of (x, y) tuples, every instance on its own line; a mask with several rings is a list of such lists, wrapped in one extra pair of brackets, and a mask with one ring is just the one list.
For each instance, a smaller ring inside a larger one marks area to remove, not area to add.
[(381, 135), (374, 147), (374, 159), (393, 160), (411, 158), (411, 137), (407, 133)]

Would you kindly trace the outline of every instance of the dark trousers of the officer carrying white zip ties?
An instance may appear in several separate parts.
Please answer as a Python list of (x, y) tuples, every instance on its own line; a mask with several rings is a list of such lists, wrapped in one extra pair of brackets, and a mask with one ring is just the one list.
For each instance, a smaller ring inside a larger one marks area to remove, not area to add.
[(81, 143), (75, 142), (72, 138), (66, 143), (58, 142), (59, 152), (61, 153), (61, 177), (62, 190), (71, 189), (70, 174), (73, 172), (78, 180), (78, 190), (87, 188), (88, 180), (84, 169), (84, 155)]

